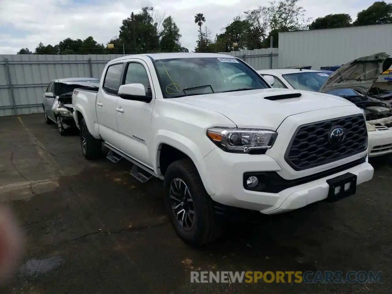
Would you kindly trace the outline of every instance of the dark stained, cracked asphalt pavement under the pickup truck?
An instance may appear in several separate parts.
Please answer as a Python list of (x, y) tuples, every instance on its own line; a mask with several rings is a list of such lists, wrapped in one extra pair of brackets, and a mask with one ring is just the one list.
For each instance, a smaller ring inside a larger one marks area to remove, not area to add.
[[(230, 224), (195, 250), (169, 224), (162, 182), (142, 184), (132, 165), (83, 158), (77, 134), (60, 136), (41, 114), (0, 118), (0, 201), (27, 236), (4, 294), (388, 293), (392, 268), (392, 167), (355, 196)], [(191, 270), (382, 271), (383, 284), (190, 283)]]

